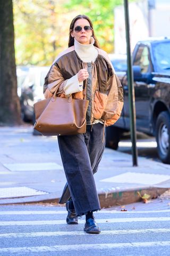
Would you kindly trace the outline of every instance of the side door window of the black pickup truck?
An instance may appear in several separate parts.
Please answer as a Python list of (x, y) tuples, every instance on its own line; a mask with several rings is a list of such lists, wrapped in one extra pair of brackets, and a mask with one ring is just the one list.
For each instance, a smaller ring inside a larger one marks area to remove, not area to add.
[(149, 50), (147, 46), (139, 46), (133, 65), (140, 66), (141, 73), (143, 74), (150, 71)]

